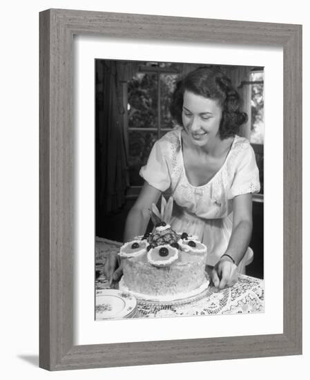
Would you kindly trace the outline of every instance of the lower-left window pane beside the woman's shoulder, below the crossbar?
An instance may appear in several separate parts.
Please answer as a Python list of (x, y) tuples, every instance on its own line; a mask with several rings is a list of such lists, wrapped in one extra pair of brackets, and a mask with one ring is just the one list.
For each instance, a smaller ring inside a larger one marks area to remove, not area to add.
[(139, 170), (148, 160), (152, 146), (157, 140), (157, 133), (129, 131), (128, 135), (130, 186), (142, 186), (144, 179), (139, 176)]

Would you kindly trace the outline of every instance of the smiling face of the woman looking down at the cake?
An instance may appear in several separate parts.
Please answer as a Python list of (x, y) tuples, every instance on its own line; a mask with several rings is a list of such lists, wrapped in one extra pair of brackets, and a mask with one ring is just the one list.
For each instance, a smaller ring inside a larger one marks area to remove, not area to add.
[(222, 107), (217, 100), (184, 92), (182, 121), (193, 144), (204, 146), (219, 139)]

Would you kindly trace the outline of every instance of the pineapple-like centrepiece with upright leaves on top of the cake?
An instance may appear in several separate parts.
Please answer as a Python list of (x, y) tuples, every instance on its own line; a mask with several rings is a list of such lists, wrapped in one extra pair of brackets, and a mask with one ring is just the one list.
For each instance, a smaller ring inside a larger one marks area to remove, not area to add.
[(148, 243), (150, 245), (153, 245), (153, 247), (166, 244), (175, 245), (175, 243), (180, 240), (180, 235), (173, 231), (169, 225), (169, 222), (171, 221), (172, 210), (172, 197), (170, 197), (167, 202), (164, 196), (162, 196), (160, 213), (155, 203), (153, 203), (150, 213), (151, 220), (155, 229), (153, 230), (153, 234), (151, 234), (151, 236), (148, 236)]

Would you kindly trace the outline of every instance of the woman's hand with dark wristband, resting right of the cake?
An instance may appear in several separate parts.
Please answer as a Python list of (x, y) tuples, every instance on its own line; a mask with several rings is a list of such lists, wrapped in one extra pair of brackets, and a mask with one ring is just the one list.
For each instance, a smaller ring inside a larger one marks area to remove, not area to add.
[(212, 269), (211, 279), (218, 291), (224, 287), (232, 287), (238, 281), (238, 267), (229, 257), (224, 256)]

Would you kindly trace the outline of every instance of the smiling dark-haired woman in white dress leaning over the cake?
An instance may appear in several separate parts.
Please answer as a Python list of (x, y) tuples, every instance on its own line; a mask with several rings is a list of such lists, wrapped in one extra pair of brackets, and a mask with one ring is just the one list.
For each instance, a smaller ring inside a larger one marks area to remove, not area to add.
[[(247, 119), (240, 105), (230, 79), (215, 68), (198, 68), (177, 83), (171, 115), (178, 126), (155, 142), (140, 170), (144, 187), (124, 232), (124, 242), (143, 235), (152, 203), (168, 192), (171, 227), (207, 246), (217, 289), (233, 286), (253, 255), (252, 193), (260, 182), (253, 149), (237, 134)], [(116, 265), (113, 256), (105, 266), (114, 281), (122, 274), (122, 265), (114, 272)]]

